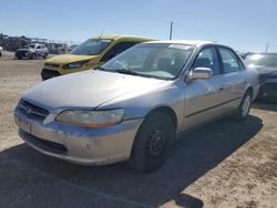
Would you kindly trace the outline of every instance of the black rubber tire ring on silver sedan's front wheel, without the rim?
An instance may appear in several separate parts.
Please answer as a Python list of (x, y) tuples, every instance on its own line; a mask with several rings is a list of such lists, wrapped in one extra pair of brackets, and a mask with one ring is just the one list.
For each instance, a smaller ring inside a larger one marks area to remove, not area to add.
[[(162, 131), (166, 136), (166, 143), (158, 157), (150, 159), (146, 156), (146, 142), (153, 131)], [(130, 165), (138, 171), (152, 171), (163, 165), (168, 157), (175, 141), (174, 124), (170, 116), (162, 113), (153, 113), (147, 116), (140, 126), (133, 144)]]

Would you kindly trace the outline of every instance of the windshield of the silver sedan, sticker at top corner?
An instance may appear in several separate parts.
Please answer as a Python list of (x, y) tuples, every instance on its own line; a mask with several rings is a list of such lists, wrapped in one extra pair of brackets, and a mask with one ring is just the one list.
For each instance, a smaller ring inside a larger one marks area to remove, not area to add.
[(142, 43), (113, 58), (102, 70), (172, 80), (189, 59), (194, 46), (170, 43)]

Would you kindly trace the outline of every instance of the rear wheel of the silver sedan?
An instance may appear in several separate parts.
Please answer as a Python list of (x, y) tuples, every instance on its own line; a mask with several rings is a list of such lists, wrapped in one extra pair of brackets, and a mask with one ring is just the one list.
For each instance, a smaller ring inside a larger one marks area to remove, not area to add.
[(243, 122), (249, 115), (249, 111), (252, 107), (252, 93), (250, 91), (246, 91), (237, 112), (234, 114), (234, 118), (238, 122)]

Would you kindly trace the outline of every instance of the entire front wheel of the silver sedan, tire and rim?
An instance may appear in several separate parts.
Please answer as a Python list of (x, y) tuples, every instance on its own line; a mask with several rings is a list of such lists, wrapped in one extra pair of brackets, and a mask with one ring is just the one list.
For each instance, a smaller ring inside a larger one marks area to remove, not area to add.
[(176, 132), (170, 116), (152, 113), (141, 124), (132, 147), (129, 165), (147, 173), (161, 167), (168, 157)]

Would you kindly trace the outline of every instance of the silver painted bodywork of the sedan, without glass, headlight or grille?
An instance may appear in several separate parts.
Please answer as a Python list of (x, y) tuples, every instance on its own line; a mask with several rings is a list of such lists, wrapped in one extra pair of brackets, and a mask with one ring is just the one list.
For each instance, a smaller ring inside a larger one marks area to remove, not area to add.
[[(178, 42), (177, 42), (178, 43)], [(147, 44), (147, 43), (145, 43)], [(248, 70), (207, 80), (186, 81), (198, 51), (215, 43), (195, 43), (196, 50), (176, 80), (165, 81), (113, 72), (88, 71), (49, 80), (34, 86), (24, 100), (50, 111), (42, 122), (14, 112), (18, 126), (30, 134), (21, 137), (38, 150), (74, 163), (98, 165), (130, 157), (135, 134), (144, 117), (157, 107), (171, 108), (177, 118), (177, 132), (236, 110), (248, 87), (254, 96), (258, 80)], [(124, 108), (121, 124), (105, 128), (84, 128), (60, 124), (54, 117), (72, 108)], [(30, 125), (24, 127), (23, 123)], [(52, 153), (29, 139), (37, 136), (63, 144), (68, 155)]]

